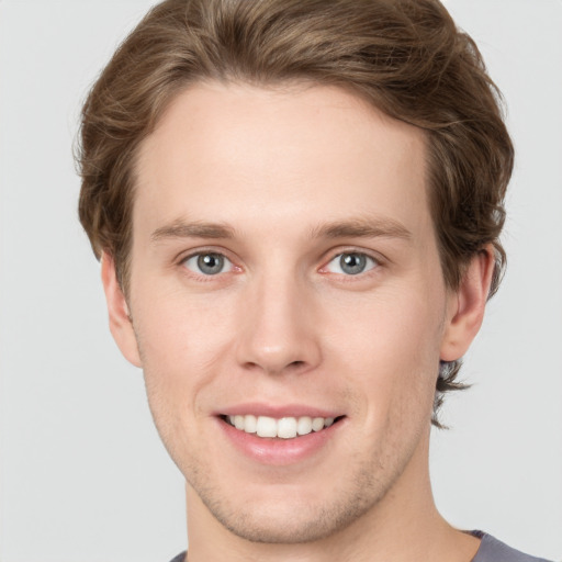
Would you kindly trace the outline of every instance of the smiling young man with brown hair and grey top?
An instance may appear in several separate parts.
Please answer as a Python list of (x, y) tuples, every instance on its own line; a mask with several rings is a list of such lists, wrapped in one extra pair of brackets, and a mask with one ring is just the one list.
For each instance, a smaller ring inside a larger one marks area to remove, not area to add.
[(190, 562), (537, 560), (447, 524), (427, 467), (512, 167), (435, 0), (168, 0), (120, 47), (80, 217), (186, 476)]

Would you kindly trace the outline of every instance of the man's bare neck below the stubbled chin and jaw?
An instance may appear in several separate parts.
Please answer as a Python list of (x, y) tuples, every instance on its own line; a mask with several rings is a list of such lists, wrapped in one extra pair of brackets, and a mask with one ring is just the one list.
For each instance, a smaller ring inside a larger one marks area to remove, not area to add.
[(237, 537), (188, 484), (189, 562), (470, 562), (480, 541), (453, 529), (437, 512), (427, 459), (428, 439), (367, 513), (327, 538), (294, 544)]

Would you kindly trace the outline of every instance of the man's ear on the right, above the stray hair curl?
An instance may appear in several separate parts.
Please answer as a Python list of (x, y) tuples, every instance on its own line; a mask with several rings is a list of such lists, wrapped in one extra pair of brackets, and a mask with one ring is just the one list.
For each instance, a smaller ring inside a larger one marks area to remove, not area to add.
[(479, 333), (484, 318), (494, 265), (494, 248), (492, 245), (485, 246), (472, 258), (459, 289), (451, 292), (441, 341), (442, 361), (460, 359)]

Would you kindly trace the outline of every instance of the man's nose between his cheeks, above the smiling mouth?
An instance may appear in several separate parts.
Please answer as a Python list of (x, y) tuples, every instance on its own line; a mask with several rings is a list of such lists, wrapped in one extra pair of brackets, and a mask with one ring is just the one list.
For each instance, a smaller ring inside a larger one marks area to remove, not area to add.
[(240, 366), (281, 374), (303, 373), (319, 364), (318, 318), (304, 282), (291, 276), (263, 277), (247, 286), (244, 301), (237, 338)]

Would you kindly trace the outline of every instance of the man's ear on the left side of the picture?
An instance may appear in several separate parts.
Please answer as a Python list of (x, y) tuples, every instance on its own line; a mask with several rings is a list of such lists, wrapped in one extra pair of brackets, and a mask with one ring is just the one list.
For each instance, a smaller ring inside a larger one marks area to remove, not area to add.
[(102, 252), (101, 257), (101, 281), (105, 292), (110, 330), (113, 339), (127, 361), (135, 367), (142, 367), (133, 322), (125, 295), (117, 281), (115, 262), (113, 257), (105, 251)]

